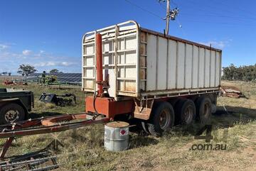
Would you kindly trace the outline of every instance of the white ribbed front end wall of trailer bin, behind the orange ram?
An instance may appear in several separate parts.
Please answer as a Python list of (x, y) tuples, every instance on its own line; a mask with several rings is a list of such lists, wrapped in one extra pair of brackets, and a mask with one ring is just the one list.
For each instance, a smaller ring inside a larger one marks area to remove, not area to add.
[(95, 92), (95, 34), (102, 35), (103, 77), (110, 96), (137, 96), (139, 92), (139, 25), (127, 21), (86, 33), (82, 39), (82, 90)]

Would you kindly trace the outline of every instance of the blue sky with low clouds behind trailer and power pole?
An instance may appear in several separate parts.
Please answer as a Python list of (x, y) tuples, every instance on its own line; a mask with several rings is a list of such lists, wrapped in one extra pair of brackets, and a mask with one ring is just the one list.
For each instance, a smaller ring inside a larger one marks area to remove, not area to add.
[[(223, 66), (256, 63), (256, 1), (175, 0), (171, 7), (180, 14), (170, 35), (222, 49)], [(158, 0), (1, 0), (0, 72), (14, 75), (21, 64), (80, 72), (87, 31), (132, 19), (163, 32), (164, 17)]]

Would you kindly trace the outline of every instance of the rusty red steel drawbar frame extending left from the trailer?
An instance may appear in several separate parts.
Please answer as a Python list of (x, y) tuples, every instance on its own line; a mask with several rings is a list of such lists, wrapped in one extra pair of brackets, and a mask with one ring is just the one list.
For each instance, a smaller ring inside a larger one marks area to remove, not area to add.
[[(11, 146), (11, 143), (15, 137), (66, 131), (69, 129), (90, 126), (97, 123), (107, 123), (108, 121), (110, 121), (109, 118), (87, 119), (87, 116), (88, 115), (85, 113), (64, 114), (60, 116), (36, 118), (28, 121), (21, 121), (14, 124), (10, 123), (4, 126), (0, 126), (2, 130), (2, 132), (0, 133), (0, 138), (7, 138), (6, 143), (4, 143), (3, 149), (1, 150), (0, 159), (4, 159), (4, 155)], [(80, 121), (67, 123), (67, 121), (72, 121), (75, 119), (80, 119)], [(63, 121), (65, 121), (65, 123), (61, 123)]]

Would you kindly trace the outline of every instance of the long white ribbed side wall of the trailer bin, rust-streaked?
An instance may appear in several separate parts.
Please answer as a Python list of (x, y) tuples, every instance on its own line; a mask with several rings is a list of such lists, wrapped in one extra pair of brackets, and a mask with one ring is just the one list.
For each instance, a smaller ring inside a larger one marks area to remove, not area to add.
[(219, 86), (219, 51), (143, 33), (146, 35), (146, 90), (141, 89), (142, 92), (159, 94), (159, 91)]

